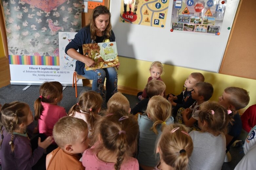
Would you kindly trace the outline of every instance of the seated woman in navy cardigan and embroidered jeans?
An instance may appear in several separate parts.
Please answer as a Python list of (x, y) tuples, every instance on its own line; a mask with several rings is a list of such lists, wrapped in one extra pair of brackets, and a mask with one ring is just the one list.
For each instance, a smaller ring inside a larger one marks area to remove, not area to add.
[[(106, 78), (106, 102), (117, 92), (117, 71), (114, 67), (85, 70), (85, 65), (87, 67), (94, 67), (97, 63), (91, 58), (88, 58), (87, 54), (87, 57), (83, 55), (82, 45), (115, 41), (115, 35), (111, 29), (110, 17), (111, 14), (107, 7), (98, 6), (94, 8), (90, 16), (90, 23), (75, 35), (75, 38), (69, 42), (65, 49), (66, 54), (77, 60), (75, 71), (85, 78), (93, 80), (92, 90), (100, 93), (103, 100), (105, 100), (104, 82)], [(118, 67), (119, 63), (116, 64), (116, 68)]]

